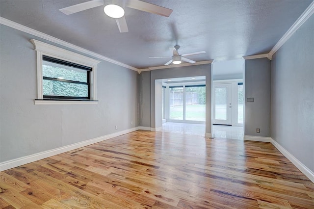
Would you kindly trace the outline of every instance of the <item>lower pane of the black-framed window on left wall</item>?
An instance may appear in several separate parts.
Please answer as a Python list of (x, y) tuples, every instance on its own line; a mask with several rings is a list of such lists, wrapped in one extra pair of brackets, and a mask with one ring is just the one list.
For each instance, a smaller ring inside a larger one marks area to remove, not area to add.
[(43, 80), (44, 96), (88, 97), (88, 85)]

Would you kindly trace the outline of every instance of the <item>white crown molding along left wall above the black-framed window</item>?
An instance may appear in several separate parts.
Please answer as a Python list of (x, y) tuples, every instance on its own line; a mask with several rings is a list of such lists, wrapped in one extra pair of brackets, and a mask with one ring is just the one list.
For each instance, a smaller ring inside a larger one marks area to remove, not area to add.
[(23, 31), (23, 32), (26, 32), (28, 34), (31, 34), (31, 35), (34, 35), (34, 36), (37, 36), (39, 38), (43, 38), (47, 41), (51, 41), (53, 43), (56, 43), (56, 44), (59, 44), (61, 46), (64, 46), (64, 47), (67, 47), (67, 48), (70, 48), (72, 50), (75, 50), (75, 51), (78, 51), (78, 52), (82, 52), (82, 53), (85, 53), (85, 54), (88, 54), (88, 55), (91, 55), (95, 58), (99, 58), (99, 59), (102, 59), (102, 60), (105, 60), (107, 62), (111, 62), (113, 64), (116, 64), (116, 65), (119, 65), (119, 66), (122, 66), (122, 67), (125, 67), (125, 68), (128, 68), (130, 70), (133, 70), (133, 71), (136, 71), (136, 72), (139, 72), (139, 69), (137, 68), (134, 68), (130, 65), (127, 65), (127, 64), (124, 64), (122, 62), (119, 62), (117, 60), (114, 60), (114, 59), (111, 59), (111, 58), (108, 58), (106, 56), (103, 56), (99, 53), (95, 53), (95, 52), (91, 52), (89, 50), (86, 50), (84, 48), (81, 48), (81, 47), (78, 47), (74, 44), (70, 44), (66, 41), (62, 41), (61, 39), (58, 39), (58, 38), (55, 38), (51, 35), (48, 35), (46, 33), (43, 33), (43, 32), (39, 32), (37, 30), (34, 30), (34, 29), (31, 29), (29, 27), (26, 27), (26, 26), (23, 26), (21, 24), (18, 24), (16, 22), (13, 22), (13, 21), (10, 21), (8, 19), (5, 19), (5, 18), (2, 18), (0, 17), (0, 24), (2, 25), (5, 25), (5, 26), (9, 26), (9, 27), (12, 27), (12, 28), (15, 28), (17, 30), (20, 30), (20, 31)]

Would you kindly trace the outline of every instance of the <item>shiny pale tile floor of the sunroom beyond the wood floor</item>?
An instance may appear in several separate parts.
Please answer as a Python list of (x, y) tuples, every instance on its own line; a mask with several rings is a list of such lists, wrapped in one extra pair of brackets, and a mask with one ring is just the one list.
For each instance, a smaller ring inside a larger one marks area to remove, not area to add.
[[(189, 123), (164, 123), (162, 129), (158, 131), (183, 133), (188, 135), (200, 135), (205, 134), (205, 124), (189, 124)], [(243, 140), (243, 127), (238, 126), (212, 126), (212, 137), (215, 138), (231, 138)]]

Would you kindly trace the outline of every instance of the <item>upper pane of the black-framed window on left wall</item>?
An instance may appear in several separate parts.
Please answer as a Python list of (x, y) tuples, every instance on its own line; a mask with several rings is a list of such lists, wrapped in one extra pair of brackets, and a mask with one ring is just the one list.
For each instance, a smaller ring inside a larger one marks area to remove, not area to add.
[(43, 76), (87, 82), (87, 71), (43, 60)]

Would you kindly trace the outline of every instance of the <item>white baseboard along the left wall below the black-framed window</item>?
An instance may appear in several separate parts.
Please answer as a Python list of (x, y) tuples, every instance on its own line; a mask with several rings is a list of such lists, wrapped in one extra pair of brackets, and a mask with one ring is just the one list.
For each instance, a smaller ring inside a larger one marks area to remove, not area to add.
[[(150, 127), (147, 127), (147, 128), (150, 129)], [(44, 152), (41, 152), (41, 153), (36, 153), (36, 154), (29, 155), (29, 156), (26, 156), (26, 157), (19, 157), (19, 158), (16, 158), (16, 159), (4, 161), (4, 162), (0, 163), (0, 171), (4, 171), (4, 170), (10, 169), (10, 168), (14, 168), (14, 167), (17, 167), (17, 166), (20, 166), (20, 165), (24, 165), (24, 164), (27, 164), (27, 163), (30, 163), (30, 162), (34, 162), (34, 161), (37, 161), (37, 160), (40, 160), (40, 159), (44, 159), (44, 158), (47, 158), (47, 157), (52, 157), (54, 155), (58, 155), (58, 154), (65, 153), (65, 152), (69, 152), (71, 150), (75, 150), (75, 149), (78, 149), (78, 148), (81, 148), (81, 147), (85, 147), (87, 145), (91, 145), (91, 144), (94, 144), (94, 143), (97, 143), (97, 142), (100, 142), (100, 141), (104, 141), (104, 140), (107, 140), (107, 139), (110, 139), (110, 138), (113, 138), (113, 137), (117, 137), (117, 136), (120, 136), (120, 135), (123, 135), (123, 134), (126, 134), (126, 133), (130, 133), (130, 132), (137, 131), (137, 130), (143, 130), (143, 129), (144, 129), (144, 127), (134, 127), (134, 128), (127, 129), (127, 130), (124, 130), (124, 131), (119, 131), (119, 132), (107, 134), (107, 135), (100, 136), (100, 137), (97, 137), (97, 138), (93, 138), (93, 139), (89, 139), (89, 140), (86, 140), (86, 141), (78, 142), (78, 143), (75, 143), (75, 144), (67, 145), (67, 146), (64, 146), (64, 147), (59, 147), (59, 148), (56, 148), (56, 149), (44, 151)]]

